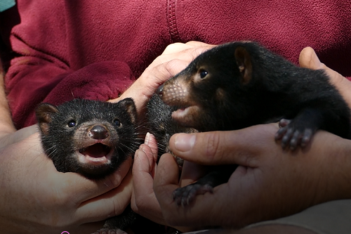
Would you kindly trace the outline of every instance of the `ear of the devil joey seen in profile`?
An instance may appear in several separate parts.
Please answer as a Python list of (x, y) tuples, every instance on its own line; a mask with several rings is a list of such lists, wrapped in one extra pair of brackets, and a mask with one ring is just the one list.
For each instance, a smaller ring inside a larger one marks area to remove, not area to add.
[(241, 83), (248, 84), (252, 77), (252, 63), (251, 56), (246, 48), (238, 46), (235, 49), (235, 60), (237, 60), (237, 66), (241, 74)]

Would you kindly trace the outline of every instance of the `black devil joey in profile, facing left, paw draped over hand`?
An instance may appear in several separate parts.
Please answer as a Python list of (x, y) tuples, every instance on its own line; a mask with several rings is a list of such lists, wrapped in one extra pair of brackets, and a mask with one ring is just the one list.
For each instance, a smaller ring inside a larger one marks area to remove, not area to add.
[[(202, 53), (158, 92), (167, 105), (192, 107), (187, 115), (173, 112), (172, 117), (181, 126), (199, 131), (243, 129), (291, 119), (281, 122), (275, 136), (283, 148), (291, 150), (305, 147), (318, 129), (351, 136), (350, 110), (323, 70), (297, 67), (253, 42), (232, 42)], [(177, 203), (191, 202), (198, 190), (208, 187), (206, 180), (211, 178), (202, 180), (192, 192), (186, 187), (176, 190)]]

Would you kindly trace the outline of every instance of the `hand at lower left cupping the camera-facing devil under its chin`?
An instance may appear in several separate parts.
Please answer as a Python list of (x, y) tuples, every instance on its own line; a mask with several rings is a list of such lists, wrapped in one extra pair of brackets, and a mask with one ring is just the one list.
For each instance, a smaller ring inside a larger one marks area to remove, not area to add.
[[(37, 126), (0, 131), (0, 226), (4, 233), (93, 233), (131, 200), (131, 159), (99, 181), (56, 171)], [(3, 141), (6, 139), (6, 141)]]

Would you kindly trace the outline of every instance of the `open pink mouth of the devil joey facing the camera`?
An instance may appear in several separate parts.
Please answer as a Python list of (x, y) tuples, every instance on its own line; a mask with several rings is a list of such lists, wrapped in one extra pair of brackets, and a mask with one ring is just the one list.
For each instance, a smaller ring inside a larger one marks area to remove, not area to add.
[(88, 164), (107, 164), (111, 162), (112, 148), (102, 143), (95, 143), (79, 150), (79, 162)]

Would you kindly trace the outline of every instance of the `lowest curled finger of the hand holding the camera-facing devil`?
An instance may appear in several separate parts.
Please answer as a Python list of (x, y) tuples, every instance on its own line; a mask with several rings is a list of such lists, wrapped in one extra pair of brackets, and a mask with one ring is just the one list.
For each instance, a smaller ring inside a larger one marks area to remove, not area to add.
[(82, 202), (77, 209), (75, 218), (83, 223), (89, 223), (121, 214), (131, 201), (132, 178), (130, 170), (117, 188)]

